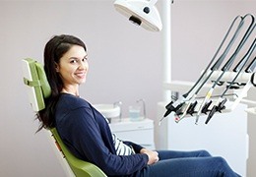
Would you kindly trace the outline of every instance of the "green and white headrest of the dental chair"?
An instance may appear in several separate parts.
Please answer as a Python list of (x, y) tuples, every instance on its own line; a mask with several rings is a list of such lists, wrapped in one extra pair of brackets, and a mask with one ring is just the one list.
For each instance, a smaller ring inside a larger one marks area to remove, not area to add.
[(23, 60), (24, 84), (28, 86), (30, 102), (34, 111), (45, 108), (44, 98), (51, 94), (51, 89), (47, 81), (42, 64), (27, 58)]

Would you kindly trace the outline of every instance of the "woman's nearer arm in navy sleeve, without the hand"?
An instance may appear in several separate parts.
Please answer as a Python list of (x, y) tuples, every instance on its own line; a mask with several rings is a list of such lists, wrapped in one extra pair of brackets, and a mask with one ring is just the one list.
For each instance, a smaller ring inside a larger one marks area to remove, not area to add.
[(102, 122), (98, 122), (105, 120), (96, 119), (95, 116), (99, 114), (91, 108), (79, 108), (70, 112), (59, 126), (58, 131), (64, 139), (63, 142), (72, 151), (84, 160), (95, 163), (108, 175), (132, 174), (147, 165), (147, 153), (116, 155), (109, 128), (100, 127)]

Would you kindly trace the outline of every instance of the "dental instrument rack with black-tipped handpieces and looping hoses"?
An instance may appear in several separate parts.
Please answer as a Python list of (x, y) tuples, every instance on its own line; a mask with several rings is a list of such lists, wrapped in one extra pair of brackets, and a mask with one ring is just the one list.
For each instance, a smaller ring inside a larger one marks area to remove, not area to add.
[[(240, 36), (241, 29), (248, 18), (251, 18), (250, 24), (242, 35), (242, 39), (238, 42), (237, 47), (234, 47), (234, 52), (230, 53), (230, 48), (233, 47), (233, 44), (237, 42), (237, 37)], [(238, 25), (231, 35), (231, 29), (234, 29), (234, 25)], [(231, 37), (229, 36), (231, 35)], [(229, 36), (230, 40), (224, 48), (224, 42)], [(238, 64), (234, 67), (232, 71), (229, 71), (232, 67), (234, 61), (241, 53), (241, 49), (244, 48), (245, 43), (248, 43), (249, 38), (254, 38), (254, 41), (251, 43), (249, 49), (246, 54), (242, 57), (242, 59), (238, 62)], [(224, 48), (224, 49), (223, 49)], [(217, 55), (220, 55), (221, 49), (224, 52), (221, 54), (219, 59), (215, 62)], [(163, 117), (160, 119), (160, 122), (168, 116), (171, 112), (174, 112), (175, 122), (179, 122), (184, 117), (194, 116), (196, 114), (196, 124), (198, 123), (198, 119), (202, 113), (207, 114), (209, 112), (208, 118), (206, 120), (206, 124), (210, 121), (213, 115), (216, 112), (222, 112), (224, 109), (233, 110), (235, 106), (241, 101), (241, 99), (246, 96), (247, 91), (251, 87), (255, 87), (256, 79), (254, 79), (255, 73), (253, 73), (255, 69), (255, 19), (251, 14), (247, 14), (243, 17), (237, 16), (226, 34), (224, 35), (224, 39), (215, 53), (213, 59), (210, 61), (202, 75), (199, 77), (197, 82), (193, 85), (191, 89), (189, 89), (186, 93), (178, 97), (176, 100), (170, 101), (166, 106), (166, 112)], [(227, 57), (228, 52), (230, 53), (230, 58), (224, 64), (222, 69), (219, 68), (224, 63), (224, 59)], [(253, 58), (254, 57), (254, 58)], [(253, 59), (251, 59), (253, 58)], [(251, 59), (251, 63), (248, 65), (249, 60)], [(213, 66), (212, 66), (213, 65)], [(248, 67), (243, 71), (245, 65)], [(212, 87), (207, 91), (206, 96), (203, 98), (198, 96), (198, 93), (201, 89), (209, 82), (212, 82)], [(237, 86), (236, 86), (237, 85)], [(220, 95), (213, 95), (215, 89), (224, 89), (223, 93)], [(233, 93), (227, 93), (227, 91), (232, 91)], [(228, 96), (231, 98), (228, 98)], [(211, 99), (211, 98), (215, 99)], [(219, 97), (219, 98), (216, 98)], [(231, 104), (231, 100), (233, 103)], [(227, 103), (230, 106), (227, 106)]]

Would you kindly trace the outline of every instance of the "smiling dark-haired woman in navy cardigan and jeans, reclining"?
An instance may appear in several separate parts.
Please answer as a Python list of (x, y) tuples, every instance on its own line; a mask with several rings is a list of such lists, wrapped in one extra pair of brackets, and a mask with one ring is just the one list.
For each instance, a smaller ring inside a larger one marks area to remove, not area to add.
[(222, 157), (205, 150), (154, 151), (111, 134), (107, 121), (85, 99), (79, 86), (89, 69), (86, 45), (72, 35), (56, 35), (44, 48), (44, 70), (52, 89), (38, 112), (42, 128), (56, 127), (78, 158), (95, 163), (107, 176), (238, 176)]

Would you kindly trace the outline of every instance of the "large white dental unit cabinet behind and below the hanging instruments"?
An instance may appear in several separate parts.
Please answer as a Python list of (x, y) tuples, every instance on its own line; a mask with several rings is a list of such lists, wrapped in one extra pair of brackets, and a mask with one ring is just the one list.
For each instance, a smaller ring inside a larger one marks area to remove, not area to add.
[[(172, 82), (166, 88), (182, 92), (191, 86), (188, 82)], [(207, 88), (206, 88), (207, 90)], [(158, 103), (158, 119), (165, 112), (165, 102)], [(223, 156), (231, 168), (241, 176), (246, 176), (246, 161), (249, 153), (247, 134), (247, 105), (239, 103), (235, 110), (218, 113), (209, 124), (205, 124), (207, 115), (202, 115), (198, 124), (195, 117), (187, 117), (175, 122), (175, 116), (156, 126), (156, 148), (173, 150), (207, 149), (214, 156)]]

